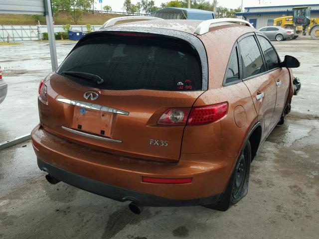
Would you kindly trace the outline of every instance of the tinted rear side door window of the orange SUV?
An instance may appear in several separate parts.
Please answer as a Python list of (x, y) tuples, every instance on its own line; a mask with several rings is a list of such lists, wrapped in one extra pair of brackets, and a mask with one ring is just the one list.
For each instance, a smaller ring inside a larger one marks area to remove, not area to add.
[(265, 66), (254, 36), (248, 36), (239, 42), (240, 55), (243, 64), (243, 77), (265, 72)]

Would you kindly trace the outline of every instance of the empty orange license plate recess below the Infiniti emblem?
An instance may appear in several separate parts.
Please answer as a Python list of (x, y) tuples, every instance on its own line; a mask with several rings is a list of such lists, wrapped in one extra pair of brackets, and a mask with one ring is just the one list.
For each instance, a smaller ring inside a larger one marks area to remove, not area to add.
[(74, 107), (72, 128), (111, 137), (113, 113)]

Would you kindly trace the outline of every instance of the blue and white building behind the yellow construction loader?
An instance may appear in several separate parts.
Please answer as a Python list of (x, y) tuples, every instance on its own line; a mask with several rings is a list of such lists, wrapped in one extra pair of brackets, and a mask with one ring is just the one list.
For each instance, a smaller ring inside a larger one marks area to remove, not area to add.
[(237, 12), (236, 16), (243, 16), (245, 20), (259, 29), (264, 26), (272, 26), (274, 19), (282, 16), (289, 16), (293, 14), (293, 7), (295, 6), (310, 6), (311, 17), (319, 17), (319, 3), (318, 4), (291, 4), (288, 5), (274, 5), (271, 3), (260, 4), (256, 6), (245, 7), (245, 11)]

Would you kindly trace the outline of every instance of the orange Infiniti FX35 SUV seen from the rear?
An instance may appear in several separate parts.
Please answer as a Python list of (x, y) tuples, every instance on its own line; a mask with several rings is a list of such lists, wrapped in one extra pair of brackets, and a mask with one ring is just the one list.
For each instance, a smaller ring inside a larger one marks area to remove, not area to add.
[(123, 19), (85, 35), (41, 81), (31, 133), (39, 168), (52, 184), (131, 201), (135, 213), (227, 210), (290, 111), (298, 60), (281, 62), (241, 19), (114, 25)]

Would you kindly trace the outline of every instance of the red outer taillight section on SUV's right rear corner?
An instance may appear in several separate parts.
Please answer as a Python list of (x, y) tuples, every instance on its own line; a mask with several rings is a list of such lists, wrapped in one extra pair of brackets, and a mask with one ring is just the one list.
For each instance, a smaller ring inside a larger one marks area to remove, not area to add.
[(187, 125), (211, 123), (224, 117), (227, 113), (228, 103), (195, 107), (191, 110)]

